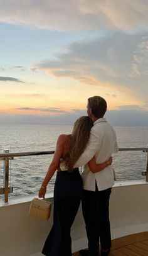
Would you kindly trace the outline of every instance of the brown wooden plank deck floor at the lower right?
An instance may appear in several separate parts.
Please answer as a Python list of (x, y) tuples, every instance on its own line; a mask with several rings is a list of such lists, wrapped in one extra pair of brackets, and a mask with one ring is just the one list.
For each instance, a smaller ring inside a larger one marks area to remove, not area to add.
[[(73, 256), (80, 256), (78, 252)], [(112, 240), (110, 256), (148, 256), (148, 232)]]

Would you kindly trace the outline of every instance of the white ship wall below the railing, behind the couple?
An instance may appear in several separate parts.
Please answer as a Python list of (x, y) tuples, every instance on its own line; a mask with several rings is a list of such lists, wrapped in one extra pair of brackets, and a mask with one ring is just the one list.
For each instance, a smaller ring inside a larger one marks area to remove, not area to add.
[[(116, 182), (110, 197), (112, 238), (148, 231), (148, 184), (142, 181)], [(48, 194), (53, 202), (53, 195)], [(39, 256), (53, 223), (53, 208), (48, 221), (28, 216), (33, 197), (0, 204), (0, 255)], [(71, 228), (72, 250), (87, 247), (85, 224), (80, 207)]]

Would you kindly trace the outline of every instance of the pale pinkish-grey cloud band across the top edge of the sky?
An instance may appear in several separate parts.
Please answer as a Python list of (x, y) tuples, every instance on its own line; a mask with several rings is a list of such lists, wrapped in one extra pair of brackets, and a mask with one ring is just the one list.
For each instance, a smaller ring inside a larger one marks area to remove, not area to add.
[(0, 21), (48, 30), (133, 31), (148, 26), (147, 0), (1, 0), (0, 3)]

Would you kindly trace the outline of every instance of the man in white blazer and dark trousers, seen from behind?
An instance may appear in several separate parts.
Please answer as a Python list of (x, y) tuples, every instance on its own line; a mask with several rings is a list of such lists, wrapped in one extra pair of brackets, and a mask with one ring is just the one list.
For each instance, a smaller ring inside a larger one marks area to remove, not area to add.
[[(87, 148), (76, 165), (81, 166), (84, 160), (86, 163), (89, 162), (94, 155), (97, 164), (100, 164), (118, 151), (114, 128), (103, 118), (106, 110), (107, 103), (102, 97), (93, 96), (88, 99), (87, 114), (93, 120), (93, 127)], [(114, 185), (112, 166), (93, 174), (86, 164), (83, 167), (82, 179), (82, 211), (87, 230), (88, 250), (80, 250), (80, 254), (98, 256), (100, 241), (101, 256), (108, 256), (111, 247), (109, 198)]]

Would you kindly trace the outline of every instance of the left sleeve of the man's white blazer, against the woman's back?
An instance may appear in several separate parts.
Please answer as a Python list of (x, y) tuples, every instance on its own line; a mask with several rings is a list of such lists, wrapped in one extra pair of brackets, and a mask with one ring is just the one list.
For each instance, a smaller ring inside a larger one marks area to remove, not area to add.
[(99, 144), (100, 144), (99, 137), (95, 132), (95, 130), (93, 130), (92, 128), (90, 132), (90, 138), (87, 143), (87, 147), (85, 148), (85, 151), (82, 153), (80, 158), (77, 160), (74, 167), (80, 167), (82, 165), (87, 164), (97, 152)]

